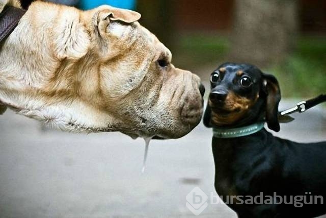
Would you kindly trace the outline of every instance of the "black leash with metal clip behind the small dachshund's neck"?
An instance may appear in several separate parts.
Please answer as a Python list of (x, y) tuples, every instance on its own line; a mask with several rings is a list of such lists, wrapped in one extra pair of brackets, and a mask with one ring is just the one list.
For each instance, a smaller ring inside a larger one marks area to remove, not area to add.
[(298, 102), (294, 107), (279, 112), (279, 119), (281, 123), (288, 123), (294, 120), (293, 117), (289, 116), (288, 114), (292, 114), (295, 112), (303, 113), (308, 109), (319, 105), (323, 102), (326, 102), (326, 94), (320, 94), (316, 98), (309, 99), (306, 101)]

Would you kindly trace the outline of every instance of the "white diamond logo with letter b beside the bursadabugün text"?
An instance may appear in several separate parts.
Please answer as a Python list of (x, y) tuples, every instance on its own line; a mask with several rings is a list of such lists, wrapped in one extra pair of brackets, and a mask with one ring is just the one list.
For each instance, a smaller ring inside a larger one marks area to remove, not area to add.
[(185, 206), (192, 211), (196, 216), (201, 214), (207, 207), (207, 195), (199, 187), (195, 187), (185, 197), (187, 202)]

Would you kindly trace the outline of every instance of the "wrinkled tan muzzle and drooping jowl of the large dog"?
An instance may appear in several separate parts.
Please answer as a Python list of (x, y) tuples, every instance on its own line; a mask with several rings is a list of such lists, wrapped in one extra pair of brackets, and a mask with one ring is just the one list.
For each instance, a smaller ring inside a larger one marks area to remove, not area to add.
[[(176, 69), (176, 74), (168, 78), (156, 94), (146, 93), (141, 100), (129, 108), (129, 128), (121, 132), (132, 138), (146, 137), (156, 139), (180, 138), (192, 131), (199, 123), (203, 113), (204, 87), (198, 76), (191, 72)], [(148, 94), (151, 98), (148, 98)], [(137, 117), (134, 115), (137, 113)], [(130, 131), (131, 120), (133, 123)]]

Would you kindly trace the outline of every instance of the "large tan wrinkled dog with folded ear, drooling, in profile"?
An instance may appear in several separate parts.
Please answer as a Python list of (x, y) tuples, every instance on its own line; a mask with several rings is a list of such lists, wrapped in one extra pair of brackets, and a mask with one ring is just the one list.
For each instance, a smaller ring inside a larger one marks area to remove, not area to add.
[[(0, 11), (19, 7), (0, 1)], [(32, 3), (0, 44), (2, 109), (67, 131), (187, 134), (200, 122), (204, 89), (196, 75), (171, 64), (171, 52), (140, 16), (110, 6)]]

